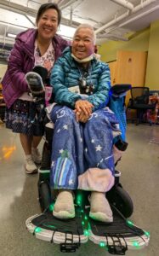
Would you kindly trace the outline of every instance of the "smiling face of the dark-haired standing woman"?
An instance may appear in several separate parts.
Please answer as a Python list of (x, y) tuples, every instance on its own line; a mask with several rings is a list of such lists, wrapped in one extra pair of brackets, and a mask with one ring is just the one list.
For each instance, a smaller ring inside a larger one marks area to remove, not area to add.
[(58, 13), (55, 9), (47, 9), (37, 21), (38, 37), (42, 40), (54, 38), (58, 28)]

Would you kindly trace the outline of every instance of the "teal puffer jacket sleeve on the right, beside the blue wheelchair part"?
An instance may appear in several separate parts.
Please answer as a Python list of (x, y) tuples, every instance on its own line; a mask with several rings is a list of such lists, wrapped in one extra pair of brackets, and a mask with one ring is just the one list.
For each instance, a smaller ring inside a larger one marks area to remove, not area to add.
[(98, 77), (98, 89), (97, 91), (88, 96), (88, 102), (94, 105), (93, 111), (105, 108), (109, 102), (109, 90), (111, 89), (111, 75), (108, 64), (102, 64), (101, 72)]

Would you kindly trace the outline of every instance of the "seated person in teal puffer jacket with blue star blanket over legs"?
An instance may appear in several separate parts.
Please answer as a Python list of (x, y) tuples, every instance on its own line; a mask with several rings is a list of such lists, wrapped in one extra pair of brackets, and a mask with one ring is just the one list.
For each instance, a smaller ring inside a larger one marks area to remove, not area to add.
[(105, 193), (114, 184), (113, 137), (120, 133), (109, 108), (111, 88), (107, 64), (94, 55), (95, 34), (87, 24), (77, 27), (71, 47), (63, 52), (51, 75), (54, 122), (50, 183), (59, 194), (56, 218), (73, 218), (73, 190), (91, 191), (90, 218), (112, 222)]

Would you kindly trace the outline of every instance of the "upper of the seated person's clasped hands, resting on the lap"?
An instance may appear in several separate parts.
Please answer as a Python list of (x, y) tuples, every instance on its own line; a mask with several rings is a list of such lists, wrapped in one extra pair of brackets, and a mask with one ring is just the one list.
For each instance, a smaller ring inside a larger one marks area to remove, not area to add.
[(84, 114), (85, 116), (88, 116), (88, 118), (92, 113), (93, 107), (94, 106), (92, 105), (92, 103), (90, 103), (86, 100), (78, 100), (75, 103), (75, 109), (77, 110), (77, 113), (79, 113), (79, 114), (82, 113), (82, 115)]

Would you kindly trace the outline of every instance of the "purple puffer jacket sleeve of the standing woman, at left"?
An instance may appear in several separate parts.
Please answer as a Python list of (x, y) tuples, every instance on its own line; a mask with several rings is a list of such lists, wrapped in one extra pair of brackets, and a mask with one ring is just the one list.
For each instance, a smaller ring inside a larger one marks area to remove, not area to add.
[(9, 56), (8, 72), (14, 87), (17, 87), (21, 92), (25, 92), (28, 90), (25, 73), (23, 71), (25, 55), (20, 49), (20, 40), (16, 40)]

